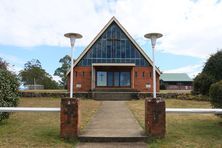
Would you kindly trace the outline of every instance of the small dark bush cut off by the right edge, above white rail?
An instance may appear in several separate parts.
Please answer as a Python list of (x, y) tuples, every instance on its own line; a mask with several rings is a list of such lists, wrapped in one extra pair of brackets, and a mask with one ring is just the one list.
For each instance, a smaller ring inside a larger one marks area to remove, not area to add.
[(210, 86), (210, 101), (214, 108), (222, 108), (222, 80)]

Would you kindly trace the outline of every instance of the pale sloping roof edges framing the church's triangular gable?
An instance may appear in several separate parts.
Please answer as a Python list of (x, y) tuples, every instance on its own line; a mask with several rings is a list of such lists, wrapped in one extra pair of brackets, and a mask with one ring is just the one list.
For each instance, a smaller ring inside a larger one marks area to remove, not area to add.
[[(99, 39), (99, 37), (106, 31), (106, 29), (115, 22), (120, 29), (126, 34), (126, 36), (129, 38), (129, 40), (133, 43), (133, 45), (139, 50), (139, 52), (145, 57), (145, 59), (150, 63), (150, 65), (153, 66), (152, 60), (148, 57), (148, 55), (144, 52), (144, 50), (136, 43), (136, 41), (131, 37), (131, 35), (127, 32), (127, 30), (119, 23), (119, 21), (113, 16), (110, 21), (103, 27), (103, 29), (96, 35), (96, 37), (92, 40), (92, 42), (83, 50), (83, 52), (80, 54), (80, 56), (75, 60), (73, 67), (75, 67), (79, 61), (84, 57), (84, 55), (90, 50), (90, 48), (93, 46), (93, 44)], [(72, 68), (73, 68), (72, 67)], [(67, 72), (69, 72), (71, 69)], [(160, 75), (160, 70), (156, 67), (157, 73)]]

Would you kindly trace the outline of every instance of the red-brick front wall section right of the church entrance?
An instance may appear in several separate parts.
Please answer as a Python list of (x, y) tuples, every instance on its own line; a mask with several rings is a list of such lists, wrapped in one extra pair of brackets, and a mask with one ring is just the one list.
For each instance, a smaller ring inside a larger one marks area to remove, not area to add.
[[(143, 77), (144, 72), (144, 77)], [(152, 67), (135, 67), (134, 73), (134, 88), (142, 92), (152, 92), (153, 91), (153, 68)], [(151, 77), (150, 77), (151, 73)], [(157, 92), (160, 90), (159, 85), (159, 74), (156, 73), (156, 86)], [(146, 84), (149, 83), (151, 88), (146, 88)]]

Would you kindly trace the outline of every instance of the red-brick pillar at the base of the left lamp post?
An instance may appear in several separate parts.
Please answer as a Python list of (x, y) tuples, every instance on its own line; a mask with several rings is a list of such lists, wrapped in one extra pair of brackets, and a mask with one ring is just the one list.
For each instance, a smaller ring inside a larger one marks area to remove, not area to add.
[(79, 134), (79, 99), (62, 98), (60, 111), (60, 136), (76, 138)]

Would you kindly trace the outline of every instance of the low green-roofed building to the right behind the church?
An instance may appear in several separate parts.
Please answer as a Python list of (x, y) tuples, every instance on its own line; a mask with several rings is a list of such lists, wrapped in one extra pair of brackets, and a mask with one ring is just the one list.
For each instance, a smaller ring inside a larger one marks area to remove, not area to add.
[(160, 75), (161, 89), (191, 90), (193, 80), (186, 73), (163, 73)]

